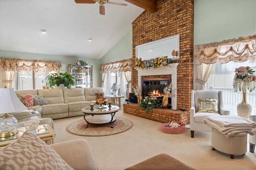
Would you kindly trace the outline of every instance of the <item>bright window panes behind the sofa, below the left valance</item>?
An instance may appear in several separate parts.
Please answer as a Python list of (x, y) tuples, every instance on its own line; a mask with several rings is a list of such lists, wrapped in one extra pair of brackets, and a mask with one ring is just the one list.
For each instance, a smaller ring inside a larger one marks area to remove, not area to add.
[(50, 73), (54, 71), (19, 71), (14, 78), (13, 87), (15, 90), (42, 89), (42, 86), (46, 86), (46, 77)]

